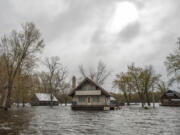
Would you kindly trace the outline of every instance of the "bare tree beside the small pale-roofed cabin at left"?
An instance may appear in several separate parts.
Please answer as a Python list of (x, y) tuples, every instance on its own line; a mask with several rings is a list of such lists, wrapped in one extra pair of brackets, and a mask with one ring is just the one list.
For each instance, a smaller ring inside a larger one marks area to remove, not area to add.
[(51, 106), (53, 106), (53, 95), (57, 95), (59, 92), (64, 94), (65, 90), (69, 87), (69, 84), (66, 83), (67, 70), (60, 63), (59, 57), (46, 58), (44, 64), (48, 71), (41, 75), (41, 80), (44, 88), (51, 95)]

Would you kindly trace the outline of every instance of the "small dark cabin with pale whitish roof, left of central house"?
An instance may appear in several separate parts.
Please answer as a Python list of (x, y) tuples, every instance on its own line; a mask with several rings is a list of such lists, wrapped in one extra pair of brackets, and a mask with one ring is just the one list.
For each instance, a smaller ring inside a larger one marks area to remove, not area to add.
[(32, 106), (57, 106), (59, 105), (57, 98), (53, 95), (51, 101), (51, 94), (49, 93), (35, 93), (31, 99)]

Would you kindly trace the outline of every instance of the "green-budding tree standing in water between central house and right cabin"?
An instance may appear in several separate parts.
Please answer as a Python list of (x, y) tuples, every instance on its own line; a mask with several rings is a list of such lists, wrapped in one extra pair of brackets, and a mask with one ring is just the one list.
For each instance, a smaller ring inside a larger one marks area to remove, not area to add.
[[(134, 88), (136, 88), (139, 98), (144, 107), (145, 101), (150, 106), (150, 95), (154, 93), (154, 87), (157, 85), (160, 75), (155, 74), (152, 66), (146, 68), (135, 67), (134, 64), (128, 66), (128, 74), (132, 78)], [(154, 106), (154, 95), (153, 106)]]

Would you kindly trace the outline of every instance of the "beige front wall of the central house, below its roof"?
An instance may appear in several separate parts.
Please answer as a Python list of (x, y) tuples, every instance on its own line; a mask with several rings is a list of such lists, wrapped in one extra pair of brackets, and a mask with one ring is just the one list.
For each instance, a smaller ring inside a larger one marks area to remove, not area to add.
[[(72, 95), (72, 108), (94, 108), (104, 110), (104, 106), (110, 105), (110, 97), (104, 95), (101, 87), (91, 81), (83, 82), (76, 88)], [(79, 108), (79, 109), (80, 109)]]

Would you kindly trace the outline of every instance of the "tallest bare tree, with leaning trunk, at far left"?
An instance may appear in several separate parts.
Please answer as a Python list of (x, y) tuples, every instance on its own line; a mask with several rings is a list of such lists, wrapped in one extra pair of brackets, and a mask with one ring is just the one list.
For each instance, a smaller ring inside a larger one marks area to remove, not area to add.
[(22, 25), (22, 31), (12, 31), (9, 36), (4, 35), (0, 41), (0, 55), (6, 65), (7, 96), (5, 109), (10, 107), (11, 91), (14, 78), (21, 67), (33, 66), (37, 53), (44, 47), (39, 30), (33, 23)]

